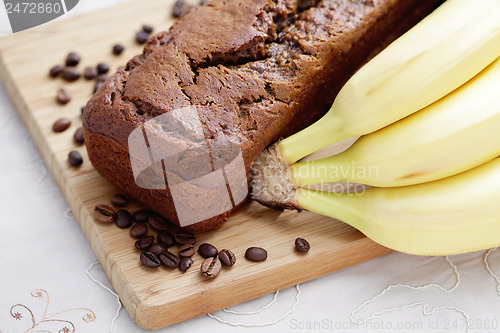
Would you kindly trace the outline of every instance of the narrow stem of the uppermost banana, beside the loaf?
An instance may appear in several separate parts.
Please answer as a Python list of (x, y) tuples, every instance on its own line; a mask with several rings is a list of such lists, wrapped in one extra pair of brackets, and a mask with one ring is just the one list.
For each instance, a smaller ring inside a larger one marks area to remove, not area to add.
[(342, 128), (342, 121), (335, 116), (332, 108), (314, 124), (280, 141), (281, 156), (288, 164), (295, 163), (333, 142), (347, 139)]

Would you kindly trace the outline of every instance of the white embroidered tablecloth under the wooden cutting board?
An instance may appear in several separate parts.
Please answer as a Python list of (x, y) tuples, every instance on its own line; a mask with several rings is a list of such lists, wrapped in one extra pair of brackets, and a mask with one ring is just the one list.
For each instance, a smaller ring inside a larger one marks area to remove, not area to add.
[[(116, 2), (81, 0), (73, 15)], [(0, 10), (0, 31), (7, 30)], [(90, 276), (112, 287), (99, 265), (87, 275), (96, 257), (3, 86), (0, 110), (0, 332), (100, 333), (112, 324), (114, 332), (143, 332), (124, 309), (112, 323), (116, 297)], [(250, 328), (202, 316), (159, 332), (497, 332), (496, 274), (500, 251), (393, 253), (303, 283), (300, 295), (282, 290), (259, 313), (214, 313)], [(255, 311), (273, 296), (231, 310)]]

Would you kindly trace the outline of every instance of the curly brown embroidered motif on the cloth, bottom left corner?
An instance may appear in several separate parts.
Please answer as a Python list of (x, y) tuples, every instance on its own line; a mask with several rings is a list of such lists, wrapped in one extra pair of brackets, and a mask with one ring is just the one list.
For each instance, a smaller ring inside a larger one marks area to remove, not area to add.
[[(83, 311), (84, 315), (82, 320), (85, 323), (93, 322), (96, 319), (95, 313), (88, 308), (73, 308), (68, 310), (59, 311), (54, 314), (48, 314), (50, 297), (49, 293), (44, 289), (35, 289), (31, 292), (31, 296), (34, 298), (45, 299), (45, 309), (41, 318), (37, 319), (33, 314), (33, 311), (24, 304), (15, 304), (10, 308), (10, 315), (16, 321), (25, 321), (26, 330), (25, 333), (32, 332), (46, 332), (46, 333), (74, 333), (76, 331), (75, 324), (69, 320), (57, 318), (59, 315), (67, 312)], [(58, 331), (47, 330), (47, 324), (57, 324), (60, 325)], [(2, 331), (0, 330), (0, 333)]]

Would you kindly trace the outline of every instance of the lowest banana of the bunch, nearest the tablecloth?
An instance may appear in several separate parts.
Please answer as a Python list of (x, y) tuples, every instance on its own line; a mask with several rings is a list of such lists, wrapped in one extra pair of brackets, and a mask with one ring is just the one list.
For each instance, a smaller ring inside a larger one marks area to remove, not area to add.
[(447, 255), (500, 246), (500, 158), (445, 179), (335, 194), (300, 188), (296, 204), (391, 249)]

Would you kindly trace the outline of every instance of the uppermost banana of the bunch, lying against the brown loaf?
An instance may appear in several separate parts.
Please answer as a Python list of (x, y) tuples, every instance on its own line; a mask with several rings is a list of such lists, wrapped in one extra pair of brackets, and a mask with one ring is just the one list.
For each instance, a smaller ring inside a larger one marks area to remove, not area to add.
[(291, 164), (385, 127), (455, 90), (500, 55), (500, 1), (448, 0), (362, 67), (319, 121), (282, 140)]

